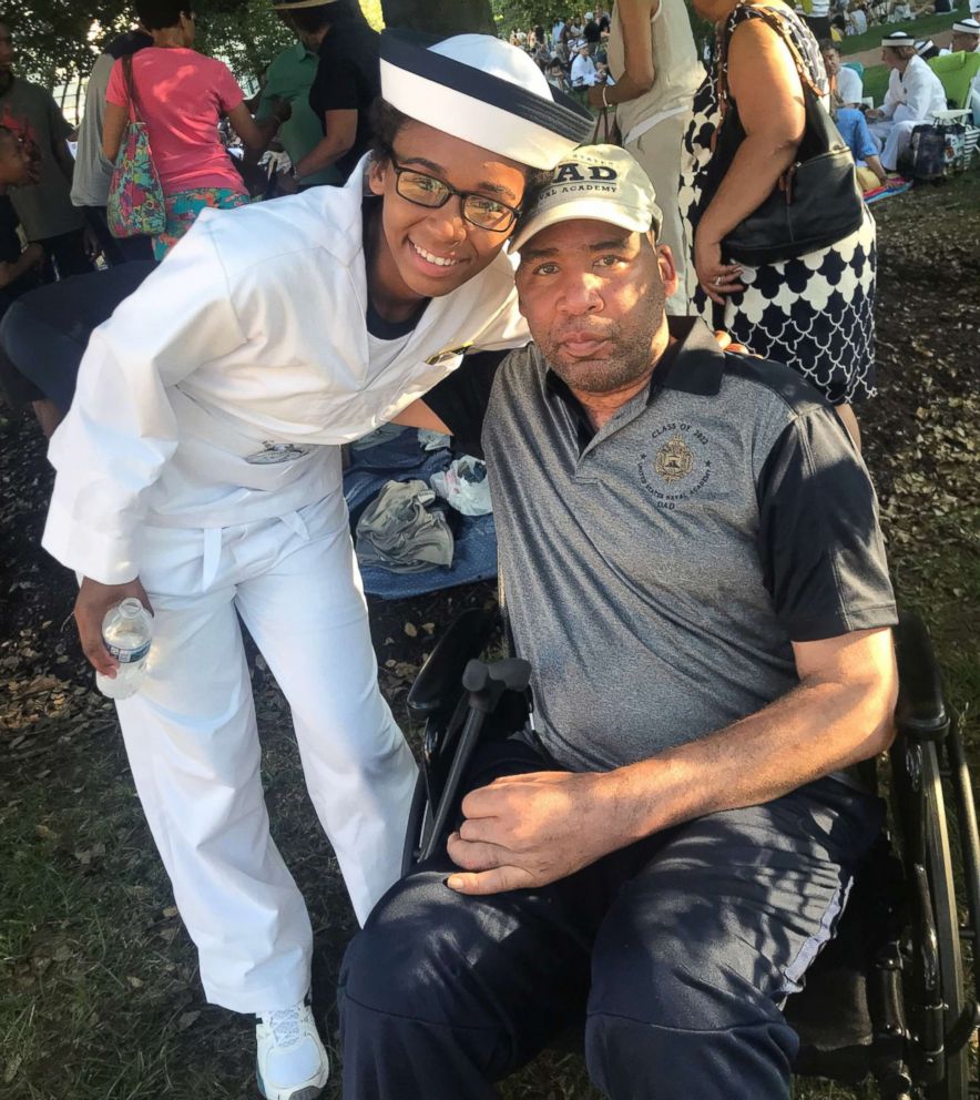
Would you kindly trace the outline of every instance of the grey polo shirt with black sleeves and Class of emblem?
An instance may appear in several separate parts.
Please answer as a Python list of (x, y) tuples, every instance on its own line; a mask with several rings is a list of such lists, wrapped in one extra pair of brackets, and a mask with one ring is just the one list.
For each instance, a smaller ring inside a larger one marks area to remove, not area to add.
[(671, 324), (683, 342), (596, 434), (534, 345), (492, 384), (474, 356), (426, 397), (462, 439), (482, 428), (539, 733), (573, 770), (760, 710), (798, 683), (790, 641), (897, 621), (875, 492), (830, 406)]

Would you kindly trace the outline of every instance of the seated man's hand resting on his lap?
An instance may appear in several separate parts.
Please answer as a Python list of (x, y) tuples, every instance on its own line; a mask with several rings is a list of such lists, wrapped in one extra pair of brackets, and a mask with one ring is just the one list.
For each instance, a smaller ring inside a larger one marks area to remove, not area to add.
[(448, 851), (460, 894), (498, 894), (565, 878), (623, 845), (614, 832), (616, 773), (533, 772), (496, 780), (462, 802)]

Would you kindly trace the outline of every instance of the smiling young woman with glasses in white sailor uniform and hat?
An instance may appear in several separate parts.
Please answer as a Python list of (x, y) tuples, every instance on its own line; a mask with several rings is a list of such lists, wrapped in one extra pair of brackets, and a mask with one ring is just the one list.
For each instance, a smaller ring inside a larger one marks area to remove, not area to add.
[(527, 340), (501, 248), (529, 167), (591, 129), (523, 51), (482, 35), (423, 50), (386, 33), (381, 86), (381, 150), (347, 186), (205, 212), (95, 330), (50, 451), (44, 547), (84, 578), (92, 664), (111, 674), (109, 607), (153, 609), (144, 686), (118, 704), (126, 751), (207, 998), (261, 1017), (273, 1100), (312, 1100), (328, 1068), (236, 612), (289, 701), (363, 920), (398, 876), (416, 766), (377, 686), (339, 445), (466, 347)]

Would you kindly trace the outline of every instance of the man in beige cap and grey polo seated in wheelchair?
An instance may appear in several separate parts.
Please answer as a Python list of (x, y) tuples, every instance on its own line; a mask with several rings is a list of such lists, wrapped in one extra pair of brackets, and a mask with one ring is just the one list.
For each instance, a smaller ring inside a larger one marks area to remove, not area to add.
[(784, 1019), (880, 802), (896, 610), (833, 408), (667, 319), (650, 183), (559, 166), (514, 238), (534, 344), (409, 410), (488, 460), (534, 729), (481, 746), (455, 827), (340, 988), (348, 1100), (483, 1100), (585, 1017), (614, 1100), (789, 1096)]

